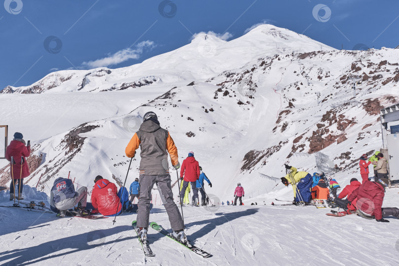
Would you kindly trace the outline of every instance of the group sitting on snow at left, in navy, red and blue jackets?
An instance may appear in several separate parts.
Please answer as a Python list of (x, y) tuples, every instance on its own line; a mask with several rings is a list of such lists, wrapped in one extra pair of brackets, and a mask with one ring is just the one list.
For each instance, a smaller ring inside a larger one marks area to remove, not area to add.
[[(138, 178), (130, 186), (131, 199), (138, 198)], [(126, 188), (117, 189), (116, 185), (98, 175), (94, 179), (94, 187), (91, 196), (93, 209), (91, 214), (100, 213), (104, 216), (119, 215), (123, 211), (129, 211), (132, 206), (129, 201), (129, 193)], [(77, 205), (77, 207), (75, 207)], [(71, 179), (57, 178), (50, 193), (50, 208), (58, 217), (64, 217), (66, 211), (74, 208), (77, 215), (82, 215), (87, 206), (87, 187), (75, 190)]]

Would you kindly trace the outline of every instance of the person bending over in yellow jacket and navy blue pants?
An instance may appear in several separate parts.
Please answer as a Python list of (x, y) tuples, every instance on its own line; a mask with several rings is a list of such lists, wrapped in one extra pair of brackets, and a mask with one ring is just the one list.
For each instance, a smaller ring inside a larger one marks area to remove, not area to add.
[[(312, 175), (305, 171), (298, 171), (294, 166), (285, 165), (285, 168), (290, 171), (285, 177), (281, 177), (281, 182), (288, 186), (292, 185), (294, 189), (295, 202), (310, 202), (312, 197), (311, 189), (313, 184)], [(297, 194), (299, 191), (299, 195)]]

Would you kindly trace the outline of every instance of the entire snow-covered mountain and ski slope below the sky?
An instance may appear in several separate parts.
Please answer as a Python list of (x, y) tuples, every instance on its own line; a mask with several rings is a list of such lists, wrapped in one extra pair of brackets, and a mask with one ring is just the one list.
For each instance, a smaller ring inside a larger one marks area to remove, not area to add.
[[(63, 70), (30, 86), (7, 86), (0, 125), (9, 126), (9, 141), (14, 132), (32, 141), (25, 200), (48, 200), (54, 180), (69, 171), (75, 188), (88, 187), (88, 201), (99, 174), (121, 187), (130, 161), (125, 147), (142, 116), (155, 111), (180, 163), (194, 151), (217, 208), (184, 207), (189, 239), (213, 255), (202, 259), (151, 229), (156, 257), (145, 258), (132, 231), (135, 214), (112, 225), (113, 218), (58, 219), (0, 207), (0, 264), (398, 265), (393, 217), (377, 223), (328, 217), (329, 208), (271, 205), (293, 199), (279, 182), (284, 164), (325, 171), (342, 188), (360, 180), (359, 157), (381, 148), (380, 109), (398, 103), (398, 82), (399, 49), (335, 50), (262, 25), (228, 42), (199, 34), (133, 66)], [(138, 154), (127, 187), (139, 177)], [(7, 164), (0, 161), (1, 186), (11, 180)], [(176, 178), (172, 171), (175, 198)], [(237, 182), (245, 205), (219, 205), (233, 199)], [(38, 192), (30, 189), (36, 185)], [(399, 207), (398, 193), (387, 189), (384, 206)], [(8, 197), (0, 192), (0, 205)], [(153, 203), (150, 221), (170, 229), (156, 189)]]

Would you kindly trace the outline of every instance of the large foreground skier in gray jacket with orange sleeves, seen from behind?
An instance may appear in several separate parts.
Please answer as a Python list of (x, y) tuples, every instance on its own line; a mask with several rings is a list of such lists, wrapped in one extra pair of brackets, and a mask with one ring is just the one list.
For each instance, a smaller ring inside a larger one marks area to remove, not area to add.
[(138, 200), (137, 211), (138, 234), (142, 239), (146, 239), (150, 217), (151, 190), (156, 183), (162, 192), (162, 201), (173, 230), (172, 235), (183, 242), (187, 242), (183, 220), (173, 200), (167, 163), (167, 153), (169, 153), (172, 166), (175, 169), (180, 168), (177, 148), (169, 132), (160, 127), (158, 117), (154, 112), (147, 112), (144, 115), (140, 129), (134, 133), (126, 147), (126, 156), (133, 158), (139, 147), (141, 147), (141, 161), (140, 199)]

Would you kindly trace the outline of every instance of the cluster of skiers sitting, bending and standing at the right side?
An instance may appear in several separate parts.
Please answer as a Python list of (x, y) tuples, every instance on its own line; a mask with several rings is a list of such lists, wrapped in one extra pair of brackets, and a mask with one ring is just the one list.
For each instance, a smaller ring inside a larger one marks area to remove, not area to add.
[[(360, 216), (378, 222), (389, 222), (383, 219), (388, 216), (399, 218), (399, 208), (382, 208), (385, 188), (389, 186), (387, 161), (384, 155), (377, 151), (367, 162), (366, 160), (367, 155), (363, 154), (359, 162), (362, 183), (357, 178), (352, 178), (350, 184), (339, 195), (337, 191), (340, 190), (340, 186), (335, 179), (327, 179), (324, 173), (314, 173), (311, 176), (308, 172), (298, 171), (293, 166), (285, 165), (288, 173), (281, 178), (281, 182), (286, 186), (289, 184), (293, 186), (296, 204), (306, 204), (311, 199), (328, 199), (333, 200), (339, 207), (356, 211)], [(374, 177), (371, 180), (368, 176), (370, 164), (374, 165)]]

